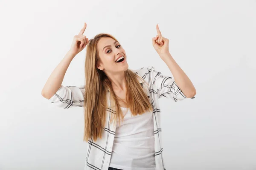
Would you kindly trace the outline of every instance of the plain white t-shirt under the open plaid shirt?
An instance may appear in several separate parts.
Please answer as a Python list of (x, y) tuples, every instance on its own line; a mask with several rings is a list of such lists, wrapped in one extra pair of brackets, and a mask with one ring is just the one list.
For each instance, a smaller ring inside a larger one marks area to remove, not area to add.
[(117, 119), (109, 167), (122, 170), (155, 170), (153, 113), (131, 116), (122, 108), (124, 121)]

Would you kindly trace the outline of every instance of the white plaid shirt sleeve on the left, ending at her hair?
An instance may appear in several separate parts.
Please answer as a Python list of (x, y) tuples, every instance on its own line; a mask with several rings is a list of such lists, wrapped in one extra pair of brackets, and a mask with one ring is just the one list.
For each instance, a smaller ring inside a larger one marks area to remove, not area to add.
[(49, 99), (52, 104), (60, 108), (84, 106), (84, 86), (63, 86)]

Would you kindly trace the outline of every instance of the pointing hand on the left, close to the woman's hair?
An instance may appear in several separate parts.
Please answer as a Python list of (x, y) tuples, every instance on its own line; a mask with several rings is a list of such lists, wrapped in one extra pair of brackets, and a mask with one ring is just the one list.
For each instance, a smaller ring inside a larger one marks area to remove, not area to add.
[(75, 35), (73, 38), (73, 42), (71, 44), (71, 48), (70, 51), (76, 55), (78, 54), (80, 51), (82, 51), (85, 46), (88, 44), (89, 40), (88, 38), (86, 38), (84, 34), (84, 31), (86, 29), (86, 23), (84, 22), (84, 27), (81, 29), (81, 31), (79, 32), (78, 35)]

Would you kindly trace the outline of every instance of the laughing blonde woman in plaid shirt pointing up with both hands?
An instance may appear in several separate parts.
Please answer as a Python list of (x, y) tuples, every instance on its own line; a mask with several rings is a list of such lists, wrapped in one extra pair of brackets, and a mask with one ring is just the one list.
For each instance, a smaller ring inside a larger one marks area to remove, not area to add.
[[(152, 44), (174, 79), (154, 66), (129, 69), (125, 50), (113, 36), (98, 34), (88, 40), (85, 29), (86, 23), (42, 95), (61, 108), (84, 107), (85, 170), (165, 170), (158, 99), (176, 102), (196, 94), (169, 53), (169, 40), (157, 25)], [(85, 84), (63, 86), (70, 62), (86, 45)]]

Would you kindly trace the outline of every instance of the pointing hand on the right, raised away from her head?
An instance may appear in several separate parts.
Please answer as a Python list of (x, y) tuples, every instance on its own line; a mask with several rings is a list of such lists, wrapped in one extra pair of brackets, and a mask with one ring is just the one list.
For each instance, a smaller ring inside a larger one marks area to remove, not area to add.
[(154, 49), (161, 56), (162, 54), (169, 53), (169, 40), (162, 36), (160, 29), (157, 24), (157, 36), (152, 38)]

